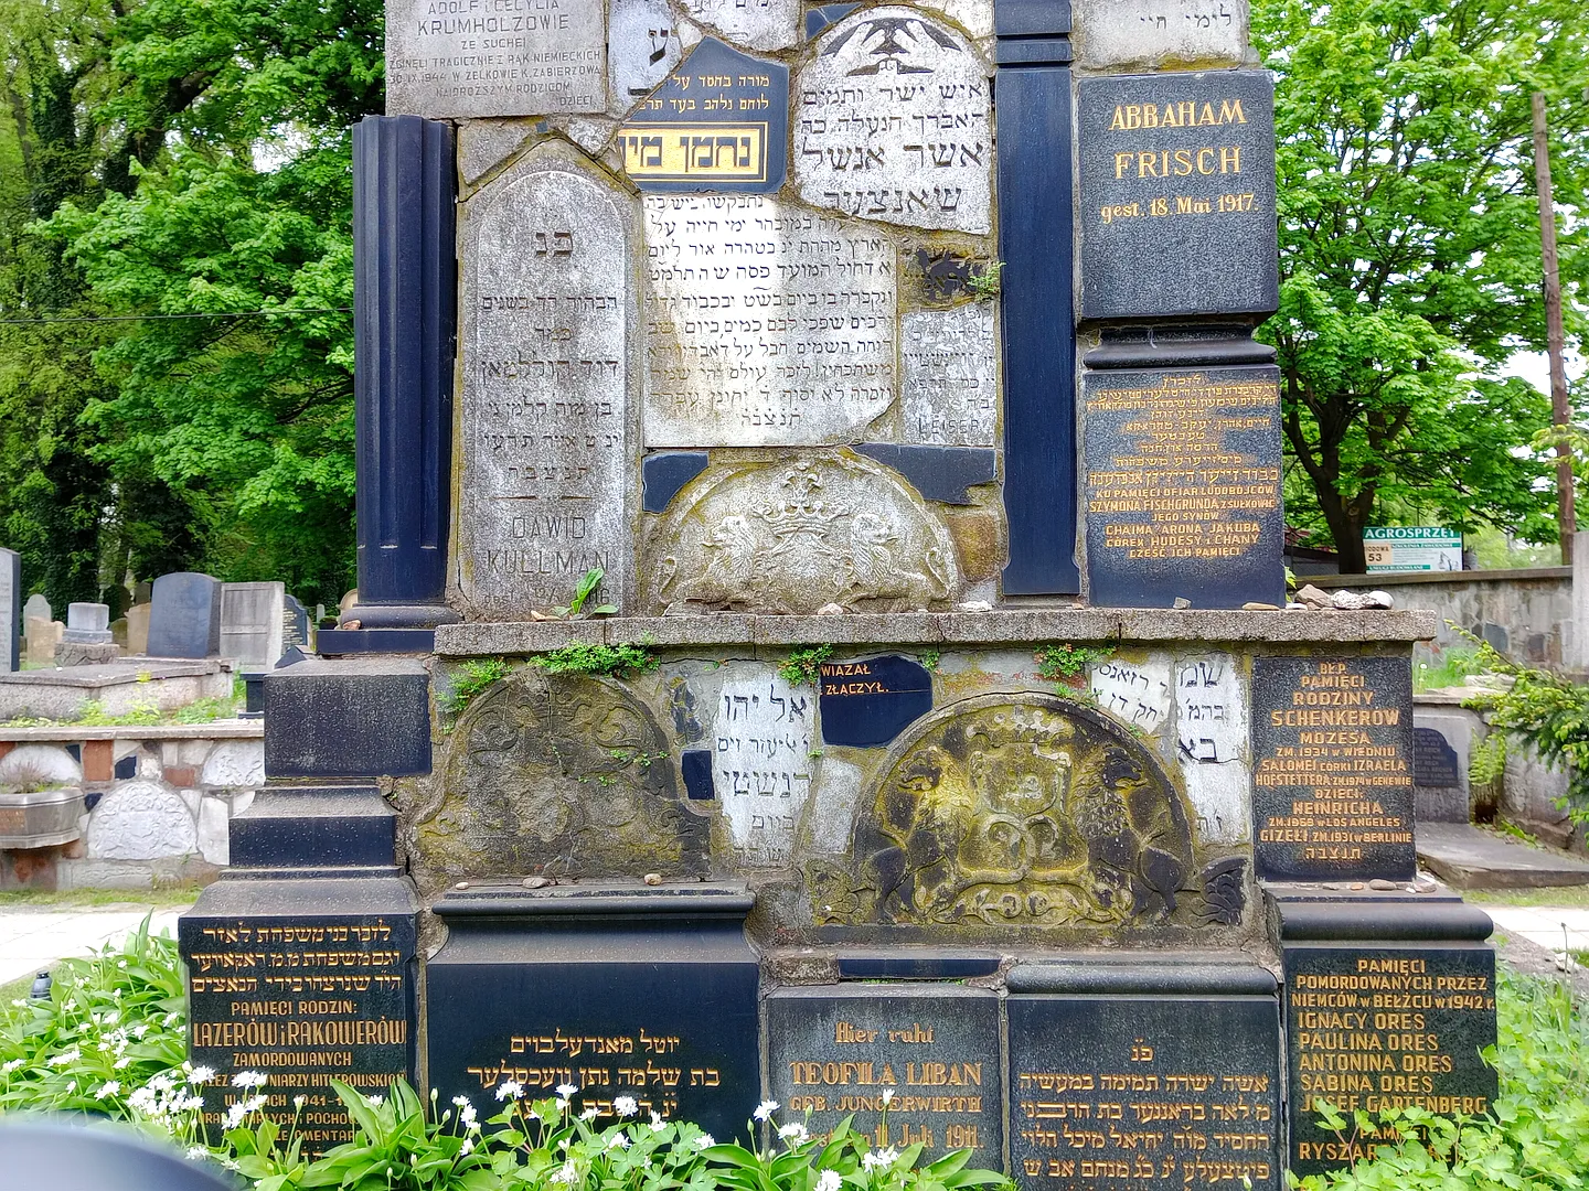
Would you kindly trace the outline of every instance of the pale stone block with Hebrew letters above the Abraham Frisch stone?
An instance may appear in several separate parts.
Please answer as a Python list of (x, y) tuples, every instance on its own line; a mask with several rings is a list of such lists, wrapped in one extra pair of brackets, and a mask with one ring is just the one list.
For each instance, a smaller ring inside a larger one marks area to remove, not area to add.
[(1093, 70), (1238, 67), (1247, 0), (1076, 0), (1076, 56)]

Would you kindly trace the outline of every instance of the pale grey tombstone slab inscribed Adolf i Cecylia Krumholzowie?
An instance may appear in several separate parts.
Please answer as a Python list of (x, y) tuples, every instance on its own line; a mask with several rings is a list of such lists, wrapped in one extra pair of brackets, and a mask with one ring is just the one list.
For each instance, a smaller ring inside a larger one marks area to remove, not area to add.
[[(607, 108), (602, 6), (386, 5), (388, 116), (543, 116)], [(445, 10), (445, 11), (443, 11)]]

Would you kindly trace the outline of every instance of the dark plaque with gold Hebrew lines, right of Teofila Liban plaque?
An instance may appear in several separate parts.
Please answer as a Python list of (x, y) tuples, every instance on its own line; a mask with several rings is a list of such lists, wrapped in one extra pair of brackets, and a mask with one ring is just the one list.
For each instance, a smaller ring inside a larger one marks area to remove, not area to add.
[(1009, 997), (1028, 1191), (1281, 1186), (1274, 997)]

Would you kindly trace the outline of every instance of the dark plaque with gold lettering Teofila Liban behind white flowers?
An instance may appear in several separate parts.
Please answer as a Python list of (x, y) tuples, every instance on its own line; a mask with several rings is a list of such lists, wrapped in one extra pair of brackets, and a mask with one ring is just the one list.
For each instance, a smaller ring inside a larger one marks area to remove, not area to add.
[[(810, 1131), (853, 1115), (877, 1147), (969, 1148), (996, 1167), (1004, 1145), (998, 994), (933, 985), (782, 988), (767, 997), (772, 1099)], [(885, 1104), (887, 1096), (887, 1104)]]

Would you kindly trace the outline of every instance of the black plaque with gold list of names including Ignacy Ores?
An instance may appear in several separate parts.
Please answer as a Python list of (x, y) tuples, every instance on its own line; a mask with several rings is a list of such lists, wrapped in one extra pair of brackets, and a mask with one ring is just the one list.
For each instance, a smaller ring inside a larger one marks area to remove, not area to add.
[(1483, 943), (1282, 948), (1290, 1169), (1319, 1174), (1395, 1137), (1319, 1124), (1319, 1100), (1355, 1110), (1487, 1112), (1495, 1072), (1495, 953)]

